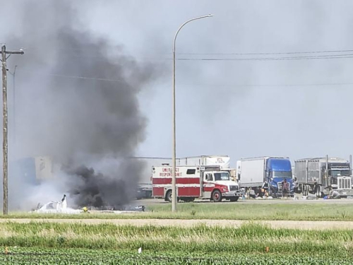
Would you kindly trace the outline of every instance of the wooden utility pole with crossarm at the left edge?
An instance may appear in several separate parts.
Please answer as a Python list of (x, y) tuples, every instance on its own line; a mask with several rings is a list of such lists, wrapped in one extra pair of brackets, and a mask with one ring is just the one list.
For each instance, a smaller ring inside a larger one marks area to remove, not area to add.
[[(2, 61), (2, 101), (3, 101), (3, 188), (4, 188), (4, 215), (8, 214), (8, 115), (7, 115), (7, 68), (6, 59), (11, 56), (11, 54), (24, 54), (23, 49), (18, 52), (8, 52), (6, 51), (6, 45), (1, 46), (1, 61)], [(7, 56), (8, 54), (8, 56)]]

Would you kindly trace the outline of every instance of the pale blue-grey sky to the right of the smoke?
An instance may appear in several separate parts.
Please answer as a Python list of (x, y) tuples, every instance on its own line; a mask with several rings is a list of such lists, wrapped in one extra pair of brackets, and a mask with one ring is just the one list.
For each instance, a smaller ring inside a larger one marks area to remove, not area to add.
[[(140, 93), (148, 128), (138, 155), (172, 153), (172, 61), (163, 59), (172, 58), (174, 33), (189, 18), (215, 15), (186, 25), (177, 40), (177, 52), (205, 55), (178, 54), (179, 58), (353, 49), (352, 1), (75, 1), (75, 5), (88, 30), (123, 45), (138, 60), (153, 58), (163, 66), (160, 78)], [(1, 20), (16, 23), (16, 7), (8, 6), (11, 16)], [(1, 24), (5, 34), (0, 40), (5, 42), (8, 32)], [(17, 47), (8, 43), (8, 48)], [(258, 55), (222, 58), (250, 57)], [(353, 83), (352, 62), (353, 58), (177, 61), (177, 155), (227, 154), (232, 163), (258, 155), (295, 159), (328, 153), (348, 158), (353, 85), (280, 85)]]

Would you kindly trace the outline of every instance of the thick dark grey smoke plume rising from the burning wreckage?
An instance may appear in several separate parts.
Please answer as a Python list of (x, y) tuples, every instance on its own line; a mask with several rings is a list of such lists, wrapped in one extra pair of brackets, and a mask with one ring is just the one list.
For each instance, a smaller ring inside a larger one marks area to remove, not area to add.
[[(122, 161), (144, 140), (138, 93), (155, 78), (155, 66), (138, 64), (124, 47), (90, 33), (69, 1), (18, 4), (16, 21), (8, 23), (16, 36), (6, 36), (8, 49), (25, 47), (25, 55), (8, 60), (9, 69), (18, 65), (11, 157), (48, 155), (70, 165), (70, 184), (56, 196), (71, 192), (77, 206), (126, 204), (143, 165)], [(116, 160), (109, 169), (102, 163), (107, 157)], [(93, 170), (97, 163), (99, 170)], [(21, 178), (10, 179), (11, 204), (32, 196)]]

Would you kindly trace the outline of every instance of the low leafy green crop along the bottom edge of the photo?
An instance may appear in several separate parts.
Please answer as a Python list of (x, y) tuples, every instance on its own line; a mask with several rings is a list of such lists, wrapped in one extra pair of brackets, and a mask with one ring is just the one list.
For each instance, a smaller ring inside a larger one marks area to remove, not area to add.
[(10, 248), (0, 254), (1, 264), (352, 264), (351, 257), (295, 254), (187, 254), (181, 252), (150, 253), (90, 249)]

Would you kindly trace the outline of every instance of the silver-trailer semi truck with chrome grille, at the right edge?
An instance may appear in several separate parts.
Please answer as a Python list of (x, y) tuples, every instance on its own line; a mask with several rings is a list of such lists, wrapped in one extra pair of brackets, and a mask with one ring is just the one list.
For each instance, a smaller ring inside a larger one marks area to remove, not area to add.
[(328, 195), (332, 189), (340, 196), (352, 196), (352, 156), (344, 158), (303, 158), (296, 160), (295, 176), (304, 196), (309, 193), (317, 197)]

